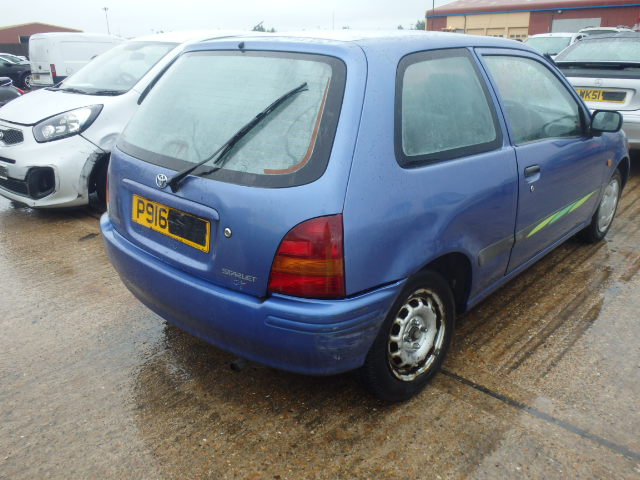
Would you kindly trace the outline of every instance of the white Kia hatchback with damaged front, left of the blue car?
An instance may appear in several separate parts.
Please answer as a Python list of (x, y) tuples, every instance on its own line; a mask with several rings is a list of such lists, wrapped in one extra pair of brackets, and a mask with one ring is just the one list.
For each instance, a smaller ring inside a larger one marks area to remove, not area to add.
[(12, 100), (0, 108), (0, 195), (36, 208), (86, 205), (92, 193), (104, 201), (111, 149), (154, 79), (187, 44), (243, 33), (136, 38), (59, 85)]

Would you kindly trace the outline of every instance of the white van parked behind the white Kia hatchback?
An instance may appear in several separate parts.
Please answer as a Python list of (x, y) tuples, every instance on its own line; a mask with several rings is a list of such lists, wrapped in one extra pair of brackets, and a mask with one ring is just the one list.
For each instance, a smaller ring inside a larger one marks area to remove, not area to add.
[(97, 33), (37, 33), (29, 38), (32, 88), (55, 85), (123, 41)]

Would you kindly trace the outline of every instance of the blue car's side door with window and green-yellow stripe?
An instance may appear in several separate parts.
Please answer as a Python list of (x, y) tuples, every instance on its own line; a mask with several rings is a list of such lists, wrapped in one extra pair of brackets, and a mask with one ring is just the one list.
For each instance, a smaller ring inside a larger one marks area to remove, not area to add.
[(603, 139), (588, 134), (588, 110), (543, 59), (515, 50), (480, 53), (518, 163), (512, 271), (590, 218), (610, 158)]

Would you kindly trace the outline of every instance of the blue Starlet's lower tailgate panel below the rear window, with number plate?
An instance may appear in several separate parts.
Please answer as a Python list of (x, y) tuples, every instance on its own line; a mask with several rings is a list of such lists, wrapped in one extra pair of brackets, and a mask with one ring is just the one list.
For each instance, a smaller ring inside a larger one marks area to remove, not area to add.
[(116, 149), (109, 179), (118, 185), (109, 210), (116, 230), (174, 268), (259, 297), (283, 237), (304, 220), (341, 213), (347, 182), (325, 174), (299, 187), (257, 188), (190, 176), (175, 194), (155, 186), (158, 174), (173, 173)]

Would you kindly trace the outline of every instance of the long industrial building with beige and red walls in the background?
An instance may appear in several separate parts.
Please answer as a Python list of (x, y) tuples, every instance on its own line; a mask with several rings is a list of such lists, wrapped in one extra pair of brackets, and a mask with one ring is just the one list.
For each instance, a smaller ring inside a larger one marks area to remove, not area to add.
[(426, 29), (524, 40), (584, 27), (634, 27), (638, 0), (458, 0), (427, 10)]

